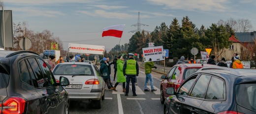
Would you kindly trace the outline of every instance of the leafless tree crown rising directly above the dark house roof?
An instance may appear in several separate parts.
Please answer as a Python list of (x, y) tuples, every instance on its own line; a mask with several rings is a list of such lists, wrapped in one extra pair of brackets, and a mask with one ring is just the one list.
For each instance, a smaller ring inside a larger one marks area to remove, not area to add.
[(250, 32), (253, 28), (253, 25), (248, 19), (238, 19), (238, 31), (239, 32)]

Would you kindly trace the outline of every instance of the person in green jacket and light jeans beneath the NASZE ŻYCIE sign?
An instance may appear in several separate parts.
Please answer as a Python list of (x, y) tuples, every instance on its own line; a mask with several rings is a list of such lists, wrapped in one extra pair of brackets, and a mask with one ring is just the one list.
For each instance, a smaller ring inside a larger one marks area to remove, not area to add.
[(149, 91), (148, 87), (147, 87), (147, 83), (148, 83), (149, 80), (150, 80), (151, 91), (157, 91), (157, 90), (154, 89), (154, 86), (153, 86), (153, 78), (152, 78), (152, 75), (151, 75), (152, 68), (157, 68), (157, 67), (154, 66), (154, 62), (152, 62), (152, 59), (149, 58), (149, 62), (145, 63), (146, 80), (145, 80), (144, 91)]

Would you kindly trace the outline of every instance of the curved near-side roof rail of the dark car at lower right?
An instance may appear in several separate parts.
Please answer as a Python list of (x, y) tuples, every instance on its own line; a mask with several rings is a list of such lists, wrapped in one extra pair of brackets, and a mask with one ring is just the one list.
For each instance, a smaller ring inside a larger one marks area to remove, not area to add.
[(233, 75), (236, 75), (236, 76), (241, 76), (241, 73), (240, 72), (238, 72), (238, 71), (236, 71), (236, 70), (234, 70), (233, 68), (226, 68), (226, 67), (203, 67), (203, 68), (200, 68), (200, 69), (198, 69), (197, 71), (201, 71), (201, 70), (211, 70), (211, 69), (224, 69), (224, 70), (228, 70), (228, 71), (230, 71), (230, 74), (233, 74)]

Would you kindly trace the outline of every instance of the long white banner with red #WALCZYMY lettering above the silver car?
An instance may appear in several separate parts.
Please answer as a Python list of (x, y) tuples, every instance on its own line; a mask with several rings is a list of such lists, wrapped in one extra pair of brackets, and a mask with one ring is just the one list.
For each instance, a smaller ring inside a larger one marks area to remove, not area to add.
[(90, 53), (90, 54), (100, 54), (104, 53), (104, 46), (96, 46), (96, 45), (82, 45), (82, 44), (68, 44), (69, 52), (76, 53)]

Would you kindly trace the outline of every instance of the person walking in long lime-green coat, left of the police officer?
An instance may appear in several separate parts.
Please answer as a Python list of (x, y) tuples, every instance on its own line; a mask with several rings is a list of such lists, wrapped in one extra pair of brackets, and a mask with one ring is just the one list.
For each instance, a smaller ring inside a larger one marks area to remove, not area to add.
[(117, 85), (119, 83), (123, 83), (123, 92), (126, 92), (126, 77), (123, 74), (124, 58), (122, 56), (119, 56), (116, 63), (117, 63), (117, 82), (113, 90), (117, 91), (116, 90)]

